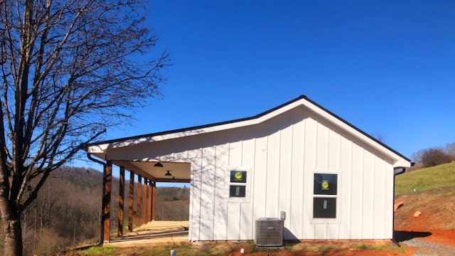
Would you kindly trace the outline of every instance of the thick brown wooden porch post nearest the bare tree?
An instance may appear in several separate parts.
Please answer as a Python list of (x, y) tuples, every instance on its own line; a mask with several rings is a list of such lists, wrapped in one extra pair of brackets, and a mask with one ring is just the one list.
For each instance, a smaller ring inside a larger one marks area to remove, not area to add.
[(104, 171), (103, 183), (105, 187), (105, 194), (102, 198), (103, 207), (103, 242), (109, 242), (110, 236), (110, 213), (111, 213), (111, 188), (112, 188), (112, 161), (107, 160)]

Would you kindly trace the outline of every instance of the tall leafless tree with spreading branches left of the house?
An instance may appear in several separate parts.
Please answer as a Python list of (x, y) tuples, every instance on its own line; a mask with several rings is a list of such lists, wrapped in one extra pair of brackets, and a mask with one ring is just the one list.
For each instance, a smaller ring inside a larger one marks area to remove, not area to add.
[(0, 255), (21, 255), (21, 213), (49, 174), (159, 95), (168, 55), (140, 7), (0, 0)]

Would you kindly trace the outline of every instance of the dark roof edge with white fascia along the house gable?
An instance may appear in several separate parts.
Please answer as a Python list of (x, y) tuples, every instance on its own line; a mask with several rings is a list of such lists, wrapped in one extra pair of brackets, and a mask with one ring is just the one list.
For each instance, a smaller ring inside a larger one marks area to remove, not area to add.
[(255, 116), (252, 116), (252, 117), (233, 119), (233, 120), (225, 121), (225, 122), (216, 122), (216, 123), (213, 123), (213, 124), (204, 124), (204, 125), (200, 125), (200, 126), (187, 127), (187, 128), (183, 128), (183, 129), (173, 129), (173, 130), (164, 131), (164, 132), (155, 132), (155, 133), (151, 133), (151, 134), (142, 134), (142, 135), (137, 135), (137, 136), (132, 136), (132, 137), (124, 137), (124, 138), (119, 138), (119, 139), (109, 139), (109, 140), (105, 140), (105, 141), (102, 141), (102, 142), (94, 142), (94, 143), (88, 144), (87, 146), (95, 146), (95, 145), (100, 145), (100, 144), (110, 144), (110, 143), (113, 143), (113, 142), (124, 142), (124, 141), (131, 140), (131, 139), (141, 139), (141, 138), (145, 138), (145, 137), (154, 137), (154, 136), (160, 136), (160, 135), (165, 135), (165, 134), (173, 134), (173, 133), (177, 133), (177, 132), (188, 132), (188, 131), (195, 130), (195, 129), (203, 129), (203, 128), (215, 127), (215, 126), (223, 125), (223, 124), (232, 124), (232, 123), (235, 123), (235, 122), (242, 122), (242, 121), (257, 119), (259, 117), (262, 117), (262, 116), (264, 116), (266, 114), (274, 112), (275, 110), (279, 110), (280, 108), (285, 107), (287, 105), (290, 105), (291, 103), (294, 103), (294, 102), (299, 101), (301, 99), (307, 100), (308, 102), (310, 102), (311, 104), (315, 105), (316, 107), (319, 107), (321, 110), (327, 112), (328, 114), (331, 114), (331, 116), (333, 116), (336, 119), (340, 120), (341, 122), (347, 124), (349, 127), (352, 127), (353, 129), (357, 130), (358, 132), (360, 132), (361, 134), (365, 135), (366, 137), (368, 137), (370, 139), (373, 139), (373, 141), (375, 141), (376, 143), (380, 144), (381, 146), (384, 146), (386, 149), (389, 149), (390, 151), (392, 151), (393, 153), (395, 153), (398, 156), (402, 157), (403, 159), (406, 159), (406, 161), (411, 161), (406, 156), (403, 156), (398, 151), (395, 151), (395, 149), (390, 148), (390, 146), (387, 146), (386, 144), (380, 142), (378, 139), (375, 139), (370, 134), (367, 134), (366, 132), (363, 132), (358, 127), (355, 127), (353, 124), (350, 124), (350, 122), (347, 122), (345, 119), (343, 119), (341, 117), (338, 117), (338, 115), (333, 114), (333, 112), (327, 110), (325, 107), (322, 107), (321, 105), (319, 105), (318, 103), (314, 102), (313, 100), (310, 100), (309, 97), (306, 97), (306, 95), (300, 95), (299, 97), (296, 97), (294, 100), (290, 100), (289, 102), (286, 102), (286, 103), (284, 103), (282, 105), (279, 105), (277, 107), (272, 108), (271, 110), (267, 110), (266, 112), (262, 112), (260, 114), (255, 115)]

